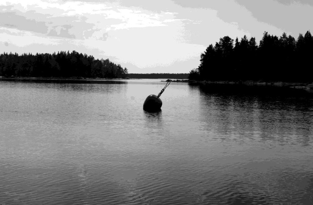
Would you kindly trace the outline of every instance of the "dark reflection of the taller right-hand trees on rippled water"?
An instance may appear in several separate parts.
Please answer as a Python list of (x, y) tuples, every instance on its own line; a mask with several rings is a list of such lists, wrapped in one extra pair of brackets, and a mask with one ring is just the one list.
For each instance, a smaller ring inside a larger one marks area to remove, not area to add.
[(200, 87), (200, 110), (207, 129), (218, 138), (233, 136), (282, 143), (311, 141), (313, 99), (311, 96), (258, 95)]

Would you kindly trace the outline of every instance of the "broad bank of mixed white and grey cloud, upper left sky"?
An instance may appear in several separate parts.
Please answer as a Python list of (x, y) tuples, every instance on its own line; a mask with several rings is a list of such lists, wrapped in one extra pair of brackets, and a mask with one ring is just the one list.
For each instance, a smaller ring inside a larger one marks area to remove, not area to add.
[[(8, 19), (2, 26), (45, 33), (49, 36), (100, 39), (110, 30), (166, 26), (163, 23), (163, 15), (122, 8), (118, 3), (108, 6), (100, 2), (12, 0), (10, 3), (3, 3), (1, 7), (4, 9), (2, 17)], [(64, 28), (64, 23), (71, 25), (71, 28)], [(84, 36), (85, 33), (87, 36)]]

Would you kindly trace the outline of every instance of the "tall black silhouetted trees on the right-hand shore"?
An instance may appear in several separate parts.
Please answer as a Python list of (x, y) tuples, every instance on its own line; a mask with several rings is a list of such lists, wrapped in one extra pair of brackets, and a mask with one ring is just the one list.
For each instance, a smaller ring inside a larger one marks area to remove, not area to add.
[(310, 31), (297, 40), (284, 32), (277, 37), (264, 32), (259, 43), (246, 36), (235, 42), (228, 36), (209, 45), (189, 79), (226, 81), (313, 81), (313, 37)]

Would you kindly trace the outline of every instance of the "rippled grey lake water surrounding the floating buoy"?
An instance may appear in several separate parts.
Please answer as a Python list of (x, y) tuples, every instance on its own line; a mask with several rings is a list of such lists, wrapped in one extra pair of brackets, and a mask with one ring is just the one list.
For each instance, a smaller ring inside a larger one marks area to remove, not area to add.
[(313, 95), (0, 82), (0, 204), (313, 204)]

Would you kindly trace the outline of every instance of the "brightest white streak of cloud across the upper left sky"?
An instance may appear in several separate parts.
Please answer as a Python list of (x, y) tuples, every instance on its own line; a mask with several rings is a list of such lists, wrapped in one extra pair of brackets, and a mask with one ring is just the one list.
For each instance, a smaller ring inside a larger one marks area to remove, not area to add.
[[(5, 4), (3, 4), (5, 5)], [(118, 4), (113, 3), (112, 6), (107, 6), (103, 3), (86, 3), (86, 2), (61, 2), (61, 1), (18, 1), (13, 0), (10, 5), (14, 5), (15, 9), (21, 12), (34, 10), (42, 14), (49, 14), (51, 16), (46, 17), (46, 21), (53, 17), (64, 16), (85, 16), (94, 19), (93, 23), (97, 25), (101, 24), (101, 21), (121, 20), (122, 23), (106, 25), (110, 29), (125, 29), (131, 27), (150, 27), (150, 26), (165, 26), (162, 24), (162, 15), (145, 12), (138, 10), (132, 10), (128, 8), (120, 8)], [(23, 7), (23, 9), (21, 9)]]

